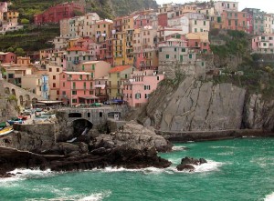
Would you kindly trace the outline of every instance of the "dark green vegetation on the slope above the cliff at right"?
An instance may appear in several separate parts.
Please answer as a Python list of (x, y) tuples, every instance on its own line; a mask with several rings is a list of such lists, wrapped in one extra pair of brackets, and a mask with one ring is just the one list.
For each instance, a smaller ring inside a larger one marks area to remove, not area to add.
[[(211, 50), (221, 63), (222, 75), (214, 77), (215, 83), (232, 83), (244, 87), (249, 93), (263, 94), (265, 98), (274, 93), (274, 65), (265, 60), (266, 55), (251, 55), (250, 35), (233, 30), (210, 32), (211, 40), (222, 40), (224, 45), (210, 45)], [(216, 59), (215, 58), (215, 59)], [(227, 61), (237, 60), (237, 65), (229, 66)]]

